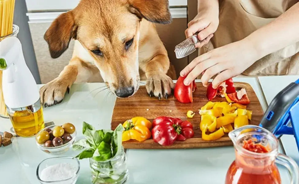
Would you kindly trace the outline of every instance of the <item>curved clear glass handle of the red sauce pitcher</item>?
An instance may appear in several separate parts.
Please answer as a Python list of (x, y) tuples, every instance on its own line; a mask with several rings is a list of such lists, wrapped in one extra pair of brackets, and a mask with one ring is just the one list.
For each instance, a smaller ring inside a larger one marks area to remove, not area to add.
[(290, 184), (299, 184), (299, 167), (295, 160), (286, 155), (278, 154), (275, 162), (288, 169), (291, 176)]

